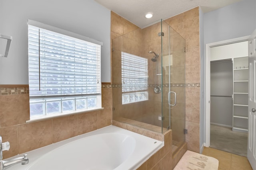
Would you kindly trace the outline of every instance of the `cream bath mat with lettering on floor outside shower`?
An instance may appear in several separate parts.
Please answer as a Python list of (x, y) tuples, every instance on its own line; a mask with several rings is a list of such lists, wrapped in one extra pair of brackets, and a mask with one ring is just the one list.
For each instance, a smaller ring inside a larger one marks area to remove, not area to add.
[(218, 170), (218, 166), (216, 158), (187, 150), (174, 170)]

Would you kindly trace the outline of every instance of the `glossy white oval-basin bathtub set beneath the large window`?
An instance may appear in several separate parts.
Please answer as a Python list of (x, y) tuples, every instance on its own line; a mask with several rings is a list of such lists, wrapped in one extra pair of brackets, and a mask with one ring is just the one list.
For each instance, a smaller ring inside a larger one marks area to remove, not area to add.
[(26, 152), (30, 162), (8, 170), (134, 170), (163, 146), (162, 141), (110, 125)]

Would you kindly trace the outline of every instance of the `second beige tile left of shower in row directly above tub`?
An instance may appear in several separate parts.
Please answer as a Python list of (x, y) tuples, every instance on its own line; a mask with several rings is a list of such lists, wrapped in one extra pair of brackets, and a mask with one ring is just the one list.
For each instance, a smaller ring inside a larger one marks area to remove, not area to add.
[(78, 135), (97, 129), (97, 111), (78, 114)]

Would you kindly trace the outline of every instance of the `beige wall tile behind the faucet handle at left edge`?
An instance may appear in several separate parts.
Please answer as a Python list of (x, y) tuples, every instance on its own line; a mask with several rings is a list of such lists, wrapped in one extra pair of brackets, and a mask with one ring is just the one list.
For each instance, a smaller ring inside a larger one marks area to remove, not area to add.
[(3, 151), (3, 159), (15, 156), (18, 154), (18, 139), (17, 139), (17, 126), (2, 127), (0, 128), (0, 135), (2, 143), (9, 142), (10, 150)]

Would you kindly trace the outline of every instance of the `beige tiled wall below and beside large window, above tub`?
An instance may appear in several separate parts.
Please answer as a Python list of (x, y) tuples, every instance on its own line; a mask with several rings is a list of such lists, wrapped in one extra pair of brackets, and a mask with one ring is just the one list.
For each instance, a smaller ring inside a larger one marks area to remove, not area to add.
[(111, 125), (110, 83), (102, 83), (104, 109), (32, 123), (26, 123), (30, 119), (28, 85), (0, 85), (0, 92), (0, 135), (3, 142), (10, 142), (4, 159)]

